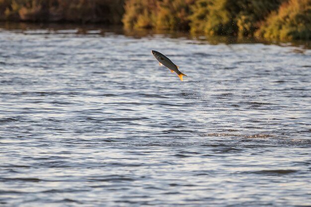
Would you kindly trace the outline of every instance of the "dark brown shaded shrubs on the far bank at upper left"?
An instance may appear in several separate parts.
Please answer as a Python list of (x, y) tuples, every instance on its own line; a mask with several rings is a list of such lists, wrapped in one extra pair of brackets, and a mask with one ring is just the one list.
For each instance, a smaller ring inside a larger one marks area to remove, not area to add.
[(0, 0), (0, 20), (120, 23), (124, 0)]

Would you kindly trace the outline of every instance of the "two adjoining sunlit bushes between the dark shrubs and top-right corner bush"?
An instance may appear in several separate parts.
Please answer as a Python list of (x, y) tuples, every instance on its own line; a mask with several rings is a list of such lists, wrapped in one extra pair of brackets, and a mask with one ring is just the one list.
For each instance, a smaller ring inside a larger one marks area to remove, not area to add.
[(126, 0), (126, 28), (251, 36), (284, 0)]

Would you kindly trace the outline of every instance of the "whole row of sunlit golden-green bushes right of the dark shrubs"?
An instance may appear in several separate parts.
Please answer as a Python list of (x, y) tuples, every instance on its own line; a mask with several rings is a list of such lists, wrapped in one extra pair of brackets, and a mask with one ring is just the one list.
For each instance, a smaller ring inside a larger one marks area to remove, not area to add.
[(311, 39), (311, 0), (127, 0), (126, 28)]

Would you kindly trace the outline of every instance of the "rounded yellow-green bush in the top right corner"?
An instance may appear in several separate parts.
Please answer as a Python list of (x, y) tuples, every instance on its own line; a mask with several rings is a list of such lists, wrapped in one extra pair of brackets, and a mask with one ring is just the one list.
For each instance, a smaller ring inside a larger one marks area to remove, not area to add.
[(311, 0), (289, 0), (272, 12), (256, 33), (265, 39), (311, 40)]

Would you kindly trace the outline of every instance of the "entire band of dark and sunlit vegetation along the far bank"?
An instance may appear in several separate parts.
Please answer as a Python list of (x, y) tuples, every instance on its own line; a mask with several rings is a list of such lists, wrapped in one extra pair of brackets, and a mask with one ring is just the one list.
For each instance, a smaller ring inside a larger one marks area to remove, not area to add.
[(311, 40), (311, 0), (0, 0), (0, 21)]

